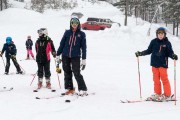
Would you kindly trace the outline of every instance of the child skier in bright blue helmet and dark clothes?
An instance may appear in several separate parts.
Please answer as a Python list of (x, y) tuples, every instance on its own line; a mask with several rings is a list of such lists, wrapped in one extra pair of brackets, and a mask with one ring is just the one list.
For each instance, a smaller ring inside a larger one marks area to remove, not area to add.
[(17, 53), (16, 45), (12, 41), (11, 37), (6, 38), (6, 43), (4, 44), (3, 49), (0, 53), (0, 57), (2, 57), (4, 52), (5, 52), (5, 57), (6, 57), (6, 67), (5, 67), (4, 74), (8, 75), (8, 73), (9, 73), (10, 59), (13, 61), (14, 65), (17, 69), (16, 74), (22, 74), (23, 72), (21, 71), (20, 66), (16, 60), (16, 53)]

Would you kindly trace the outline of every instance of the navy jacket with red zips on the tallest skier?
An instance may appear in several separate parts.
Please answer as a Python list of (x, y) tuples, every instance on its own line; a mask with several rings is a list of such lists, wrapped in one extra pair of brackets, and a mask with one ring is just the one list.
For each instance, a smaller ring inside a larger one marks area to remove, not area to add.
[(73, 32), (72, 28), (70, 28), (70, 30), (65, 31), (61, 39), (57, 56), (62, 54), (62, 56), (69, 58), (82, 57), (82, 59), (86, 59), (86, 48), (85, 33), (80, 30), (80, 27), (78, 27), (76, 32)]

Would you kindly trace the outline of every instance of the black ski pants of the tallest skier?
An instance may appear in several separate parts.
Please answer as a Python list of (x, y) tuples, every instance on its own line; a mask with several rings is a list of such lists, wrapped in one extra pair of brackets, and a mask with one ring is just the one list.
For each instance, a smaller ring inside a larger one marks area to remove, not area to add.
[(83, 76), (80, 73), (80, 57), (69, 58), (62, 56), (62, 66), (64, 70), (65, 89), (73, 89), (72, 72), (78, 84), (78, 90), (87, 91)]

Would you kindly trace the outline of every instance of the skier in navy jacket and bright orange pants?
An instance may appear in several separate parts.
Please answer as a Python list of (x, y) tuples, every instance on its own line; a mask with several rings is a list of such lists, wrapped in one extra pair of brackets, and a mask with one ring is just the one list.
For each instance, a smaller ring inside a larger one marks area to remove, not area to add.
[[(171, 43), (166, 37), (165, 28), (158, 28), (156, 30), (156, 36), (157, 37), (151, 41), (147, 50), (142, 52), (137, 51), (135, 55), (138, 57), (151, 54), (154, 94), (148, 97), (147, 100), (171, 100), (171, 86), (167, 74), (168, 57), (173, 60), (178, 60), (178, 56), (174, 54)], [(161, 82), (163, 84), (164, 94), (162, 94)]]

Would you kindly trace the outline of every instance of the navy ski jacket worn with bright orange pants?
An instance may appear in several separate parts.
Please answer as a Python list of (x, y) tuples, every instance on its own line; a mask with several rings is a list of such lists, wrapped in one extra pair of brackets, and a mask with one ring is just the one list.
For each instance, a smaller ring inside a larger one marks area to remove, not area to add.
[(142, 55), (151, 54), (151, 66), (168, 68), (168, 57), (172, 58), (174, 51), (167, 37), (163, 40), (155, 38), (151, 41), (147, 50), (141, 52)]

